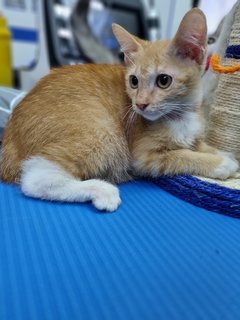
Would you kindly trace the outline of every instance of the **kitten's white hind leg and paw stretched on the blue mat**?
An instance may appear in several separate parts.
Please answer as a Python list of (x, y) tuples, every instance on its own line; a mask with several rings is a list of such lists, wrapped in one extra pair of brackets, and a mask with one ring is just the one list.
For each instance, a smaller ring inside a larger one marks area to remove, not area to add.
[(98, 210), (110, 212), (121, 203), (114, 185), (98, 179), (78, 180), (58, 164), (39, 156), (23, 162), (21, 188), (30, 197), (63, 202), (91, 201)]

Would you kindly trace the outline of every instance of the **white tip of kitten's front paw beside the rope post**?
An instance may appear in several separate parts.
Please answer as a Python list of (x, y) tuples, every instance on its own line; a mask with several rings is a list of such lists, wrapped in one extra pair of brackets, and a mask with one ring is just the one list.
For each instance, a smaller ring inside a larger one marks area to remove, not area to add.
[(223, 156), (223, 161), (221, 164), (214, 170), (213, 178), (217, 179), (227, 179), (229, 177), (234, 176), (234, 174), (239, 169), (239, 163), (236, 159), (234, 159), (232, 154), (227, 154), (221, 152)]

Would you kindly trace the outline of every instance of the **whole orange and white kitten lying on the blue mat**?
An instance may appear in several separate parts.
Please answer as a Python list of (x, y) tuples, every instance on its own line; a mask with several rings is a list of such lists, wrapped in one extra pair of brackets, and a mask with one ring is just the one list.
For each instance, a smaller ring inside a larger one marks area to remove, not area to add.
[(114, 184), (135, 175), (234, 175), (237, 161), (203, 141), (204, 14), (190, 10), (171, 41), (140, 40), (116, 24), (113, 32), (125, 66), (54, 69), (16, 107), (2, 180), (30, 197), (111, 212), (121, 203)]

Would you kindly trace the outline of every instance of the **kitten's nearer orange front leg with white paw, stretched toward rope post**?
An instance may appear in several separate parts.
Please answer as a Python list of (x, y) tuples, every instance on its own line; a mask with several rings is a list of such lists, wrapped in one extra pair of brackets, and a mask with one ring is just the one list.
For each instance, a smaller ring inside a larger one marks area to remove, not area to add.
[(208, 178), (227, 179), (239, 168), (237, 160), (224, 154), (196, 152), (179, 149), (161, 152), (148, 150), (133, 152), (133, 167), (138, 175), (157, 177), (159, 175), (192, 174)]

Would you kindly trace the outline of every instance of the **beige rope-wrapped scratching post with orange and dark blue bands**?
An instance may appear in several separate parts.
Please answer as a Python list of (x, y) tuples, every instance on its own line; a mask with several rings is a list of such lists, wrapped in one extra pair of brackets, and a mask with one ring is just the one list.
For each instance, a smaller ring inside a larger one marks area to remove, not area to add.
[(240, 0), (221, 63), (224, 66), (213, 56), (212, 67), (220, 77), (210, 110), (207, 142), (240, 159)]

